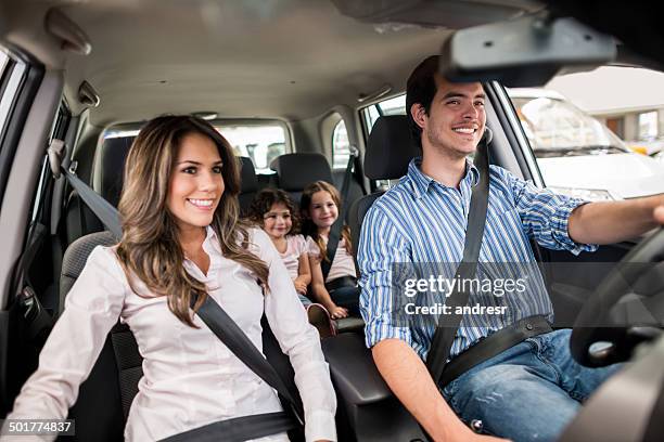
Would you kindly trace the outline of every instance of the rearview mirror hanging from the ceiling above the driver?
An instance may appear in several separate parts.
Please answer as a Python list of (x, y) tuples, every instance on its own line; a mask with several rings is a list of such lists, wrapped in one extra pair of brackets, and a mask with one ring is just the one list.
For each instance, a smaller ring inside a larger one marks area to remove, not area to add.
[(613, 37), (573, 18), (527, 16), (456, 31), (443, 44), (440, 73), (450, 81), (545, 84), (564, 66), (600, 65), (616, 56)]

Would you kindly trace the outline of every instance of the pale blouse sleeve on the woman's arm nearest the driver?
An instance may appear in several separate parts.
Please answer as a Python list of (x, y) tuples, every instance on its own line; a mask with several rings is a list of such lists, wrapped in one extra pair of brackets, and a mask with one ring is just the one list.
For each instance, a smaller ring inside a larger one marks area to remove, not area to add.
[(295, 385), (305, 408), (306, 440), (336, 441), (336, 395), (320, 348), (320, 336), (308, 323), (283, 261), (267, 234), (255, 230), (253, 243), (270, 270), (265, 314), (295, 372)]

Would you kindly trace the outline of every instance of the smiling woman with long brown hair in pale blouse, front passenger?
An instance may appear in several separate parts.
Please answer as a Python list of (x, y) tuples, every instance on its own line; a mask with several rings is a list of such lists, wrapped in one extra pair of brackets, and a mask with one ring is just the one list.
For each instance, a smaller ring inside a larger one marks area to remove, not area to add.
[[(228, 142), (195, 117), (155, 118), (129, 151), (125, 182), (122, 240), (90, 255), (9, 419), (66, 417), (119, 317), (144, 358), (127, 439), (281, 412), (274, 390), (196, 314), (210, 297), (259, 351), (265, 313), (298, 377), (307, 440), (335, 440), (336, 402), (318, 334), (270, 239), (238, 220), (238, 161)], [(261, 435), (286, 441), (284, 430)]]

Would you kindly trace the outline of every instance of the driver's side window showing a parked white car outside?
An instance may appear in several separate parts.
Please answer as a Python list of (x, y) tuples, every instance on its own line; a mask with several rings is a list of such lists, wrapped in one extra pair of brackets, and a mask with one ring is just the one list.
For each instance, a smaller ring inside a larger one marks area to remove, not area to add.
[(657, 142), (664, 136), (662, 86), (661, 73), (603, 66), (508, 93), (545, 185), (613, 200), (664, 192), (664, 164), (656, 157), (664, 145)]

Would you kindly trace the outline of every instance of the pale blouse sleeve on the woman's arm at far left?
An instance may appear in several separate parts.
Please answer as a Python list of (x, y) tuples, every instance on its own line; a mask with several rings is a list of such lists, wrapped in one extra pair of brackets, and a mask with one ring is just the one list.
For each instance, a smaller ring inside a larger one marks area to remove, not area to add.
[[(110, 248), (97, 247), (7, 419), (64, 419), (123, 309), (127, 283)], [(38, 440), (52, 440), (41, 437)], [(21, 438), (22, 441), (28, 439)]]

